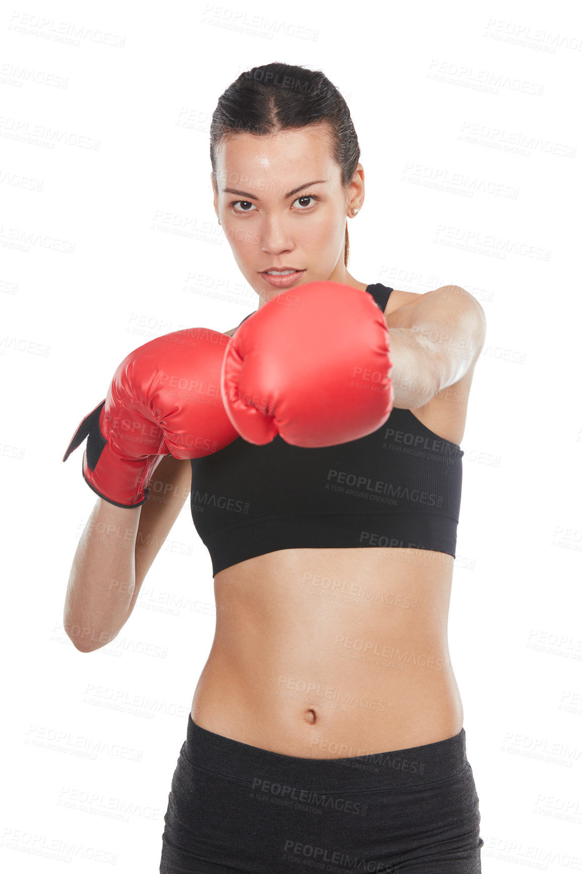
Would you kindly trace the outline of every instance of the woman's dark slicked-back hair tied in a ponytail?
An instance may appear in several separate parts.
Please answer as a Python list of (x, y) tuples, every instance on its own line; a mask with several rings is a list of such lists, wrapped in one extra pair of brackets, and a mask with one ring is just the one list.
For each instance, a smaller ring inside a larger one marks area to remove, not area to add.
[[(320, 70), (290, 64), (264, 64), (240, 73), (218, 98), (211, 121), (211, 165), (214, 187), (216, 154), (222, 140), (249, 133), (273, 135), (281, 130), (306, 128), (327, 122), (331, 155), (342, 171), (342, 185), (350, 184), (360, 147), (350, 110), (329, 79)], [(350, 237), (345, 224), (344, 266), (348, 265)]]

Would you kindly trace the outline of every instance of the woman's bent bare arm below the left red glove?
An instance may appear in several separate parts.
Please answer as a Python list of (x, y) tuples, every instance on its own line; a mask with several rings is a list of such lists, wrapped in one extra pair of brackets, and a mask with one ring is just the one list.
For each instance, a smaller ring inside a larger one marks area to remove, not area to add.
[(167, 455), (139, 507), (97, 499), (73, 557), (63, 623), (80, 652), (114, 640), (190, 492), (191, 463)]

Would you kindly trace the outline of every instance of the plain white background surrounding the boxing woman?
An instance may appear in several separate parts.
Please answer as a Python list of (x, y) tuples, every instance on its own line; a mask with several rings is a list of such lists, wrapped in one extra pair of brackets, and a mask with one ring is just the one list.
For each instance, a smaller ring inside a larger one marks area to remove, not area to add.
[(81, 655), (62, 611), (95, 496), (82, 449), (61, 458), (130, 350), (183, 327), (224, 331), (256, 309), (212, 209), (209, 128), (239, 73), (274, 60), (321, 69), (350, 106), (367, 186), (350, 221), (350, 273), (414, 292), (452, 282), (482, 302), (488, 336), (461, 442), (449, 621), (482, 869), (582, 870), (573, 6), (4, 8), (11, 779), (0, 853), (12, 874), (62, 871), (52, 848), (66, 870), (158, 871), (171, 775), (214, 629), (210, 558), (186, 502), (119, 637)]

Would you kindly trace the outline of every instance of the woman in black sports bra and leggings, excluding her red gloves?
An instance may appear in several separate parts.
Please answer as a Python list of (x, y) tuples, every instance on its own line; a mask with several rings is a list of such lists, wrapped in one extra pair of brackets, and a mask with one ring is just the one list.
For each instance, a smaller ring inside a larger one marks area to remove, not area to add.
[[(230, 435), (191, 461), (165, 454), (165, 490), (132, 508), (100, 501), (89, 523), (161, 543), (190, 491), (211, 554), (216, 632), (171, 783), (162, 874), (481, 871), (447, 611), (485, 320), (462, 288), (417, 295), (350, 275), (359, 154), (341, 94), (299, 66), (242, 73), (212, 117), (214, 209), (258, 311), (280, 295), (293, 307), (319, 281), (370, 295), (355, 296), (389, 331), (389, 418), (334, 446)], [(168, 488), (176, 500), (156, 503)], [(66, 624), (82, 615), (101, 631), (79, 649), (118, 633), (156, 555), (136, 552), (135, 567), (114, 555), (97, 579), (99, 548), (87, 537), (73, 564)], [(114, 614), (103, 591), (122, 561), (132, 585)]]

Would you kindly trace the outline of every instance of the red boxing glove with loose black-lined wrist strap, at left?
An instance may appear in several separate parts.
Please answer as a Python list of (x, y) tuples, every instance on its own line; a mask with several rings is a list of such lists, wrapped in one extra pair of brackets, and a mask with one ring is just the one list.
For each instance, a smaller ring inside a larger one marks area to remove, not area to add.
[(117, 507), (148, 500), (151, 475), (164, 455), (202, 458), (236, 440), (220, 397), (229, 336), (204, 328), (177, 330), (130, 352), (107, 398), (73, 435), (63, 461), (88, 436), (83, 477)]

